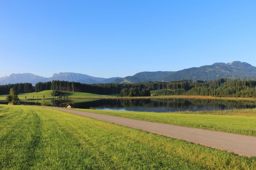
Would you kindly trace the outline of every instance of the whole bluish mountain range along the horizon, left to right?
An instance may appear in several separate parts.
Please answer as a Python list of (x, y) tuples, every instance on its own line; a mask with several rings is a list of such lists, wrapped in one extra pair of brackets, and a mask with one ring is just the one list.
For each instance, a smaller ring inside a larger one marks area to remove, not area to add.
[(240, 61), (231, 63), (214, 63), (201, 67), (187, 68), (181, 71), (154, 71), (140, 72), (133, 76), (101, 78), (88, 76), (80, 73), (55, 73), (52, 77), (46, 78), (32, 73), (18, 73), (10, 76), (0, 77), (0, 84), (32, 83), (39, 81), (65, 80), (85, 84), (95, 83), (136, 83), (149, 81), (173, 81), (181, 79), (192, 80), (213, 80), (216, 78), (256, 78), (256, 67)]

